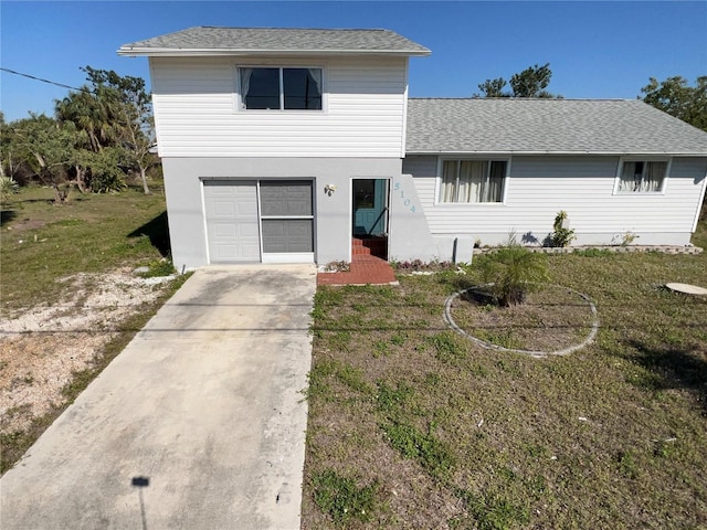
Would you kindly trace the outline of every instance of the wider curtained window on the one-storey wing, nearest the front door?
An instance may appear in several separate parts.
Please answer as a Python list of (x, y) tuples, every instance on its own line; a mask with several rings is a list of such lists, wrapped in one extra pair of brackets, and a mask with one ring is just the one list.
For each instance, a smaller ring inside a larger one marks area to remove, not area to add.
[(440, 202), (503, 202), (506, 160), (444, 160)]

